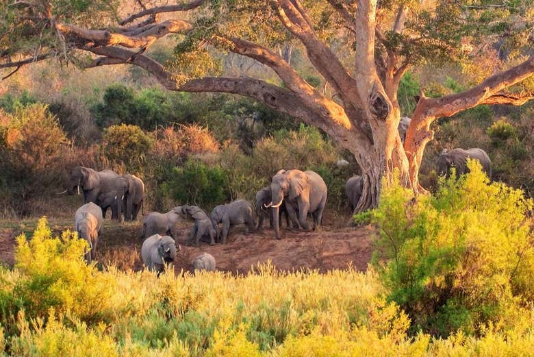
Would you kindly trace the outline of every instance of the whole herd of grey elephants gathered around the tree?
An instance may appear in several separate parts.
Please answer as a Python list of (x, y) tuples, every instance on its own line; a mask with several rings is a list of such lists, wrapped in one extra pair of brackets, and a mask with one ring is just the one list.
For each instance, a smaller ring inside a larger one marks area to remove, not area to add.
[[(403, 138), (401, 125), (399, 131)], [(437, 173), (447, 175), (451, 167), (455, 167), (457, 175), (466, 173), (468, 158), (479, 160), (483, 171), (491, 179), (491, 160), (485, 151), (478, 148), (444, 150), (437, 160)], [(352, 210), (359, 201), (363, 186), (364, 178), (359, 175), (351, 177), (345, 184), (346, 197)], [(135, 175), (118, 175), (111, 170), (95, 171), (88, 167), (75, 167), (63, 193), (74, 194), (76, 190), (78, 195), (80, 190), (83, 191), (84, 205), (75, 213), (75, 229), (79, 238), (88, 242), (86, 260), (91, 262), (95, 259), (98, 236), (107, 209), (111, 209), (112, 219), (135, 220), (142, 209), (144, 184)], [(210, 245), (226, 243), (232, 225), (245, 225), (248, 232), (262, 230), (266, 218), (269, 219), (276, 238), (280, 238), (281, 219), (284, 216), (288, 227), (291, 225), (295, 230), (315, 230), (322, 222), (327, 193), (325, 181), (314, 171), (280, 170), (272, 177), (270, 186), (256, 193), (254, 205), (238, 199), (216, 206), (209, 215), (201, 208), (190, 205), (176, 206), (166, 213), (150, 212), (144, 217), (140, 232), (140, 238), (144, 239), (141, 247), (143, 263), (159, 275), (166, 263), (175, 260), (180, 249), (175, 241), (177, 223), (185, 217), (194, 220), (186, 244), (196, 247), (203, 240)], [(307, 222), (308, 215), (312, 217), (313, 225)], [(194, 259), (192, 268), (212, 271), (216, 268), (215, 258), (203, 253)]]

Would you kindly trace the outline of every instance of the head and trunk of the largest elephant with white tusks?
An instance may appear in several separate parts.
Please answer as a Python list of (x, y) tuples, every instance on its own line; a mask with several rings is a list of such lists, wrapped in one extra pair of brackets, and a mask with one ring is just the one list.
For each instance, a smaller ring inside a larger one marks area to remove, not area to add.
[(270, 184), (271, 199), (269, 204), (265, 207), (270, 207), (275, 210), (273, 213), (273, 220), (275, 225), (275, 233), (277, 238), (280, 238), (279, 232), (279, 207), (281, 206), (284, 197), (288, 197), (293, 201), (301, 195), (309, 195), (310, 185), (309, 179), (303, 171), (300, 170), (280, 170), (272, 177)]

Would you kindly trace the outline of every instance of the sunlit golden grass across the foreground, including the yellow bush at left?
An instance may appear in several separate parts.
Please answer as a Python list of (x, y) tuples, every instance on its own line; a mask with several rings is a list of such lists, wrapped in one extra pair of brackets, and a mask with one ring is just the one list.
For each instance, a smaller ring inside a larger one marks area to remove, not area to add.
[(523, 356), (534, 347), (522, 328), (529, 315), (507, 333), (488, 325), (480, 337), (411, 338), (372, 269), (97, 271), (84, 263), (86, 242), (53, 238), (45, 219), (17, 244), (16, 267), (0, 269), (0, 353), (13, 356)]

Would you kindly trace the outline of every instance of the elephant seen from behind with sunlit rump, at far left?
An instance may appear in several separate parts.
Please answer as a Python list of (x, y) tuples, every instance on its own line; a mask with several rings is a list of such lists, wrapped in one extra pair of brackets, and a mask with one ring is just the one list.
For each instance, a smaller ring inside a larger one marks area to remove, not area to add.
[(75, 229), (79, 238), (83, 238), (89, 245), (86, 253), (86, 261), (92, 262), (97, 254), (99, 232), (102, 227), (102, 210), (96, 204), (89, 202), (76, 210)]

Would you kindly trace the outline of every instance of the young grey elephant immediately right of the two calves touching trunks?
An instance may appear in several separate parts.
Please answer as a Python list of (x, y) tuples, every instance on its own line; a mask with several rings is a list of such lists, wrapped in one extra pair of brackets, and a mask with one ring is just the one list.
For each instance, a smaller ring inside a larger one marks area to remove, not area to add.
[(252, 204), (244, 199), (238, 199), (229, 204), (216, 206), (212, 210), (212, 213), (209, 214), (209, 217), (217, 227), (217, 231), (219, 225), (223, 225), (223, 233), (220, 235), (217, 234), (221, 241), (223, 241), (223, 244), (226, 243), (231, 225), (246, 224), (248, 232), (253, 232), (256, 228), (256, 223), (252, 215)]

